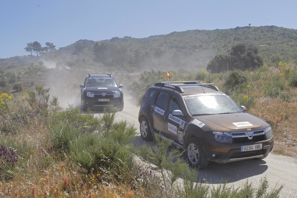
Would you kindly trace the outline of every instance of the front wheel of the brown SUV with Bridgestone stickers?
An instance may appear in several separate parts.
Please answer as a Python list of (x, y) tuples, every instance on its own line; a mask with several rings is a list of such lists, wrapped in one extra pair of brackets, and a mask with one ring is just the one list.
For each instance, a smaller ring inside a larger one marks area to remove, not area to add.
[(189, 138), (185, 148), (186, 151), (184, 152), (184, 158), (188, 162), (189, 166), (198, 169), (207, 167), (208, 160), (206, 159), (202, 146), (197, 138)]

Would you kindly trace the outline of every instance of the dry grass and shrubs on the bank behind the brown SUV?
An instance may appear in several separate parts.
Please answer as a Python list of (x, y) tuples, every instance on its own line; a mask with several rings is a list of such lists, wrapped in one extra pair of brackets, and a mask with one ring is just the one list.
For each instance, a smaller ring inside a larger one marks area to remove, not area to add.
[(269, 123), (274, 131), (273, 153), (297, 157), (297, 67), (296, 60), (263, 65), (253, 70), (233, 70), (210, 73), (201, 69), (194, 73), (188, 70), (150, 70), (140, 74), (132, 83), (131, 90), (140, 102), (145, 91), (157, 82), (199, 80), (214, 83), (247, 112)]

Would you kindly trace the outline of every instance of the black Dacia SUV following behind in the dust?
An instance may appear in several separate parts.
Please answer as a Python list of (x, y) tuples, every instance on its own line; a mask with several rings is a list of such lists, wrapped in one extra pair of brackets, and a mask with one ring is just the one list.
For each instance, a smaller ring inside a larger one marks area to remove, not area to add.
[(81, 109), (96, 107), (116, 107), (117, 111), (124, 108), (123, 85), (117, 85), (111, 74), (89, 74), (81, 87)]

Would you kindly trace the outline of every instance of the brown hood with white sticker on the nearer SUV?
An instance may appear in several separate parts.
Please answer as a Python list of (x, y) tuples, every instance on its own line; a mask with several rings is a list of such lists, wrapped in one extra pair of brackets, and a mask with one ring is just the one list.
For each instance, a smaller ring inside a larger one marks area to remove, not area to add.
[(266, 129), (269, 124), (248, 113), (195, 116), (195, 119), (218, 132), (242, 132)]

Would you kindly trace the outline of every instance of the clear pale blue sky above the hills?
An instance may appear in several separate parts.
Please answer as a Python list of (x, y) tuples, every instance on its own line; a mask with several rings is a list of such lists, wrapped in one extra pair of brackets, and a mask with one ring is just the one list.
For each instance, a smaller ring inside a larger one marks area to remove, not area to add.
[(28, 42), (56, 48), (79, 39), (104, 40), (189, 29), (274, 25), (297, 29), (297, 1), (1, 1), (0, 58), (28, 55)]

